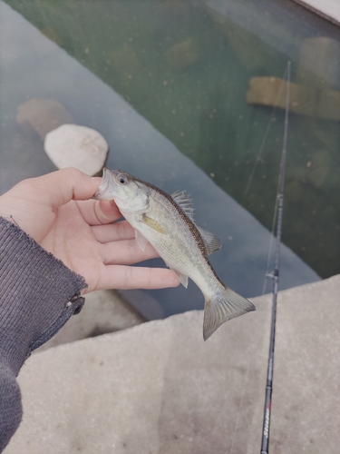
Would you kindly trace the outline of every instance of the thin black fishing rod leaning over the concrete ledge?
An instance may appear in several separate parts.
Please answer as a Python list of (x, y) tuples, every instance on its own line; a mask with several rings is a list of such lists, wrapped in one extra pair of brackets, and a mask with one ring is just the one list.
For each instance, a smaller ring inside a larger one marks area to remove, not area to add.
[(287, 64), (287, 92), (286, 92), (286, 114), (285, 114), (285, 132), (282, 144), (281, 163), (278, 174), (277, 183), (277, 239), (275, 246), (275, 261), (274, 271), (267, 274), (266, 277), (273, 279), (273, 305), (270, 325), (270, 341), (269, 341), (269, 355), (267, 365), (267, 386), (265, 398), (265, 411), (263, 417), (263, 430), (261, 442), (261, 454), (268, 454), (269, 452), (269, 430), (270, 430), (270, 417), (271, 417), (271, 402), (273, 390), (273, 372), (274, 372), (274, 349), (275, 349), (275, 331), (277, 322), (277, 291), (278, 291), (278, 278), (280, 269), (280, 245), (281, 245), (281, 232), (282, 232), (282, 219), (283, 219), (283, 202), (285, 190), (285, 171), (286, 171), (286, 156), (287, 156), (287, 133), (288, 133), (288, 111), (289, 111), (289, 91), (290, 91), (290, 62)]

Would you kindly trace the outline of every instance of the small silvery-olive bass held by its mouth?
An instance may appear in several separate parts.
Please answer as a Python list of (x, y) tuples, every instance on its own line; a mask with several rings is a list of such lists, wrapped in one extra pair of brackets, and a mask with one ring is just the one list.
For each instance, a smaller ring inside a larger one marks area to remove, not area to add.
[(205, 299), (204, 341), (225, 321), (255, 311), (251, 301), (219, 280), (209, 255), (219, 251), (221, 242), (195, 223), (193, 204), (186, 192), (170, 195), (129, 173), (104, 168), (94, 198), (113, 200), (134, 228), (141, 250), (150, 242), (185, 288), (188, 278), (198, 285)]

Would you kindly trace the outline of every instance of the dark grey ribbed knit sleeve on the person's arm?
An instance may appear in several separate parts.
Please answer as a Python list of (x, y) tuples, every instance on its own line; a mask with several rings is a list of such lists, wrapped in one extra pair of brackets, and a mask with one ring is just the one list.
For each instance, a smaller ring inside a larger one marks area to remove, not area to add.
[(83, 277), (0, 217), (0, 452), (22, 418), (15, 377), (31, 351), (81, 311)]

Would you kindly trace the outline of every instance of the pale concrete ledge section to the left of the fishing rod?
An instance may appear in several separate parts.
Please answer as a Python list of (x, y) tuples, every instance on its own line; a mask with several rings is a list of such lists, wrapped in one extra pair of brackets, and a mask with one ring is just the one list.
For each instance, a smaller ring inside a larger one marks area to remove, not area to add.
[(36, 353), (5, 453), (246, 452), (261, 431), (269, 301), (208, 342), (192, 311)]

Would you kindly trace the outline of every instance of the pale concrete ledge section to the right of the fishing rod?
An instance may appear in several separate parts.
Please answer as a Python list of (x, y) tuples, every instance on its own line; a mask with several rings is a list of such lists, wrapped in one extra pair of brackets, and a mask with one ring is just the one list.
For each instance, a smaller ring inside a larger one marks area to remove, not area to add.
[(277, 311), (272, 452), (340, 452), (340, 275), (285, 291)]

